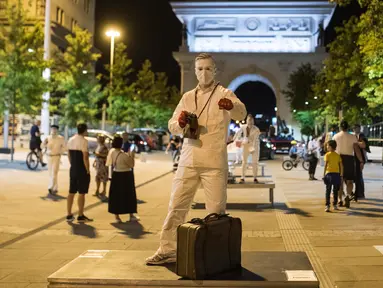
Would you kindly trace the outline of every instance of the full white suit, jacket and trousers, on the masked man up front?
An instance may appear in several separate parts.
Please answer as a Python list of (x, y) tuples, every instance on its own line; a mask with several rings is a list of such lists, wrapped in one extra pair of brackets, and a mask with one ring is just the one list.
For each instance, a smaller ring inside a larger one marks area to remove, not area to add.
[[(202, 91), (197, 86), (183, 95), (173, 117), (169, 120), (169, 130), (172, 134), (183, 132), (178, 124), (178, 117), (183, 110), (195, 113), (197, 116), (200, 114), (214, 86), (207, 91)], [(222, 98), (228, 98), (233, 102), (232, 110), (219, 109), (218, 102)], [(201, 183), (205, 190), (208, 213), (224, 213), (227, 197), (228, 126), (231, 119), (242, 120), (245, 116), (245, 105), (232, 91), (218, 86), (198, 119), (200, 142), (196, 143), (189, 138), (184, 139), (178, 170), (173, 180), (168, 215), (162, 228), (160, 248), (157, 253), (167, 254), (176, 251), (177, 227), (185, 222), (194, 195)]]

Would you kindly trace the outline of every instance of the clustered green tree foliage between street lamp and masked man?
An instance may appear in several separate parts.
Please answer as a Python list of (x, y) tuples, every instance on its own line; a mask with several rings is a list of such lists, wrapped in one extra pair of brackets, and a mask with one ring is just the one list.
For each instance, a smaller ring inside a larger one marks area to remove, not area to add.
[[(169, 87), (165, 73), (152, 71), (149, 60), (142, 64), (136, 80), (132, 81), (132, 61), (124, 44), (117, 45), (115, 57), (113, 84), (105, 90), (109, 119), (117, 125), (166, 127), (179, 99), (178, 90)], [(110, 67), (106, 68), (110, 72)]]

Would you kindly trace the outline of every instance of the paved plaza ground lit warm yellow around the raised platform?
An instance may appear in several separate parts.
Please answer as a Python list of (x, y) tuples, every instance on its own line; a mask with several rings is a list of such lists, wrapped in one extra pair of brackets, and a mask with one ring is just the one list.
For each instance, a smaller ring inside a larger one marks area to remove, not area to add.
[[(26, 170), (25, 156), (26, 151), (18, 152), (15, 163), (9, 163), (8, 156), (0, 155), (0, 288), (47, 287), (49, 275), (87, 249), (154, 252), (158, 248), (173, 177), (169, 155), (158, 152), (148, 155), (146, 162), (137, 159), (141, 221), (123, 224), (114, 223), (107, 204), (91, 196), (94, 182), (85, 214), (95, 221), (68, 224), (64, 220), (67, 159), (62, 158), (59, 175), (62, 197), (52, 199), (47, 197), (47, 170)], [(276, 182), (274, 209), (268, 190), (228, 191), (228, 213), (243, 221), (242, 250), (304, 251), (321, 287), (383, 287), (381, 164), (366, 166), (366, 200), (326, 213), (321, 181), (308, 181), (302, 168), (283, 171), (281, 159), (265, 163), (264, 180)], [(319, 166), (318, 178), (321, 173)], [(204, 217), (202, 191), (195, 200), (189, 218)]]

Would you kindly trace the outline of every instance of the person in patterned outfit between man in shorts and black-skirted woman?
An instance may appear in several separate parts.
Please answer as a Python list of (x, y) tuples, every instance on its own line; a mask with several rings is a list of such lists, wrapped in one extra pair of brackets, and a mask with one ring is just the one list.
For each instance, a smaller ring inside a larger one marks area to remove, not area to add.
[[(97, 136), (97, 148), (94, 152), (96, 159), (93, 162), (93, 167), (96, 169), (96, 193), (93, 196), (106, 198), (106, 184), (108, 182), (108, 167), (106, 167), (106, 157), (108, 156), (108, 147), (105, 145), (105, 136)], [(102, 192), (100, 193), (100, 186), (102, 183)]]

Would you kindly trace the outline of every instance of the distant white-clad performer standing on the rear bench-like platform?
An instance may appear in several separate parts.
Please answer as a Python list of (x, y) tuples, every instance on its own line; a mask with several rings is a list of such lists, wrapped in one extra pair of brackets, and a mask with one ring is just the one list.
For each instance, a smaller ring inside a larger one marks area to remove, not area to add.
[[(251, 155), (251, 166), (253, 168), (254, 183), (258, 183), (258, 162), (259, 162), (259, 135), (261, 131), (254, 125), (254, 117), (249, 114), (246, 124), (239, 131), (242, 136), (242, 176), (239, 183), (245, 183), (247, 161)], [(238, 135), (238, 134), (237, 134)]]

